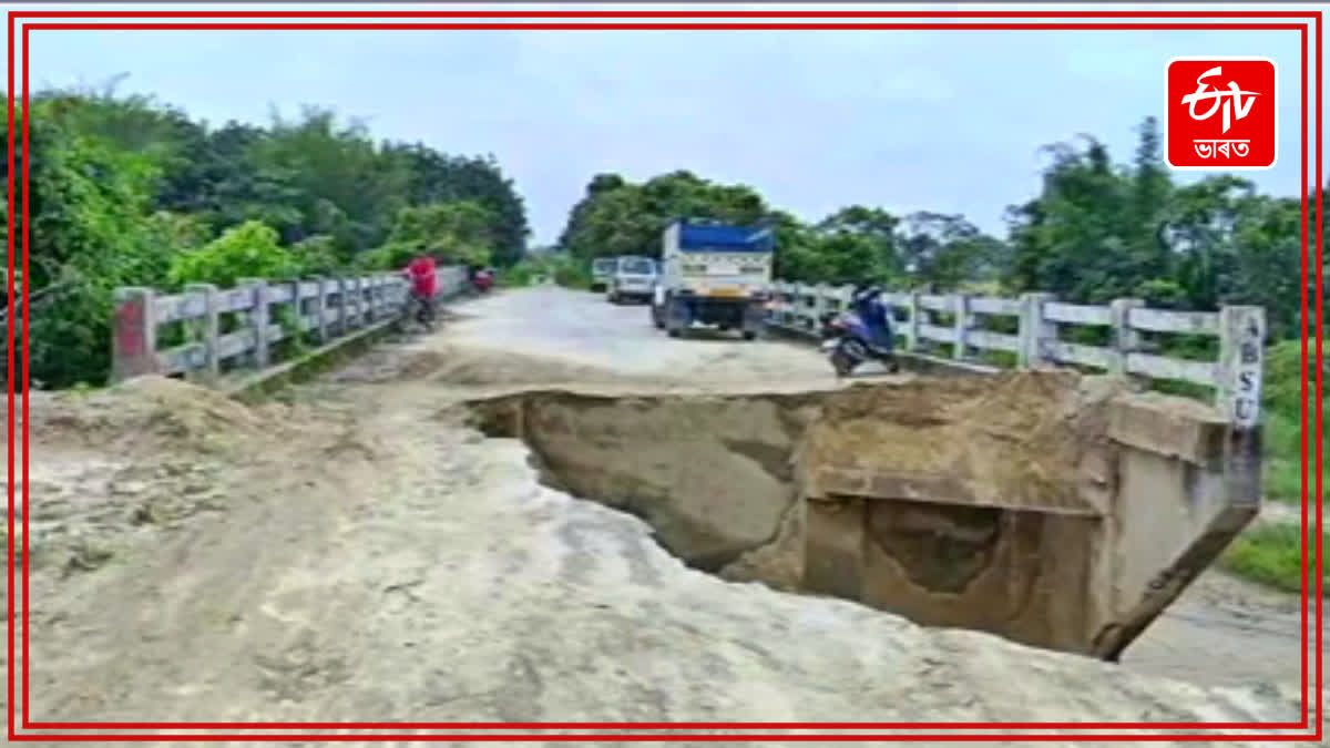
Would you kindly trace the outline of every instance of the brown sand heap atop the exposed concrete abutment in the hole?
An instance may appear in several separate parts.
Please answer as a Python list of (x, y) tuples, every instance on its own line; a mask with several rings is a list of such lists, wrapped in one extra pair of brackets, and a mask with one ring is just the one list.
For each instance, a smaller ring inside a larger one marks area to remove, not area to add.
[(1068, 371), (850, 387), (826, 398), (805, 463), (936, 483), (966, 503), (1071, 508), (1108, 403), (1129, 390)]

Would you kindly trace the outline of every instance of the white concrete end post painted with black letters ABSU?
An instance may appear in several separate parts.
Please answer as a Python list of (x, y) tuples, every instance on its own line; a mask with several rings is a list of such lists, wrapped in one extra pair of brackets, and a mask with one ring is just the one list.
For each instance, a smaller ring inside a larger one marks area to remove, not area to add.
[(1220, 309), (1220, 359), (1216, 366), (1216, 406), (1238, 430), (1261, 419), (1261, 375), (1265, 345), (1265, 309)]

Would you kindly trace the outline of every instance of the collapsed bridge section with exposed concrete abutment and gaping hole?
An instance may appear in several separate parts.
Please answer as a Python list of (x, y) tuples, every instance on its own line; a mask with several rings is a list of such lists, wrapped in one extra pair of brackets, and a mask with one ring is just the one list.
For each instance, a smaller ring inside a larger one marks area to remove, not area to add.
[(1250, 433), (1117, 377), (468, 406), (548, 483), (638, 515), (696, 568), (1105, 659), (1258, 510)]

